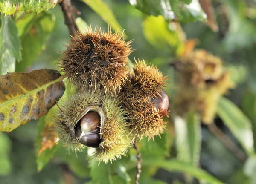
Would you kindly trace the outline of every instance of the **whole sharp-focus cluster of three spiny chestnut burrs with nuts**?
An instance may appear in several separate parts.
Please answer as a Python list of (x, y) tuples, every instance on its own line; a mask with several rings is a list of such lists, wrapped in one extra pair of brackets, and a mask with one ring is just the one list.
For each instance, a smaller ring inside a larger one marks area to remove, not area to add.
[[(166, 78), (152, 65), (134, 62), (129, 68), (131, 41), (118, 32), (78, 32), (63, 52), (60, 67), (76, 86), (76, 94), (60, 105), (55, 123), (68, 149), (96, 148), (93, 158), (113, 161), (143, 136), (165, 129), (169, 101)], [(132, 71), (132, 72), (131, 72)]]

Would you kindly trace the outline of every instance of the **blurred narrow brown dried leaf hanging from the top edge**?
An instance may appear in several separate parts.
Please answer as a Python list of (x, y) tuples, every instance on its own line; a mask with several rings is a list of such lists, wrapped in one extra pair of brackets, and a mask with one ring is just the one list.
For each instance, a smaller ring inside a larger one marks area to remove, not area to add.
[(218, 24), (216, 22), (216, 17), (214, 13), (214, 9), (212, 7), (211, 0), (199, 0), (199, 3), (204, 10), (204, 13), (207, 15), (206, 24), (214, 31), (218, 32)]

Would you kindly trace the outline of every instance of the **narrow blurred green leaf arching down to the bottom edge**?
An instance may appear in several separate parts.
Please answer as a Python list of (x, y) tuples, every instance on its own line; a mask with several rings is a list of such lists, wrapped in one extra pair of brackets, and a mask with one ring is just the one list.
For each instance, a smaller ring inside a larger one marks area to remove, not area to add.
[(197, 179), (204, 180), (209, 184), (224, 184), (219, 181), (217, 178), (214, 178), (212, 175), (207, 173), (206, 171), (193, 167), (191, 164), (187, 164), (182, 161), (177, 160), (143, 160), (142, 167), (155, 166), (166, 169), (170, 172), (183, 172), (189, 175), (194, 176)]

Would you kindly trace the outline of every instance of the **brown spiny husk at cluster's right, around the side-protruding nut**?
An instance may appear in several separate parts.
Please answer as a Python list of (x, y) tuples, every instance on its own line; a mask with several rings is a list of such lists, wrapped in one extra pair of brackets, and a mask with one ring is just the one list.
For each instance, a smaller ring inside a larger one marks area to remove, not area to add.
[(145, 61), (134, 65), (134, 74), (119, 94), (122, 106), (128, 112), (128, 125), (132, 141), (143, 136), (153, 138), (163, 133), (165, 122), (160, 118), (152, 97), (156, 97), (166, 83), (166, 78), (153, 65)]

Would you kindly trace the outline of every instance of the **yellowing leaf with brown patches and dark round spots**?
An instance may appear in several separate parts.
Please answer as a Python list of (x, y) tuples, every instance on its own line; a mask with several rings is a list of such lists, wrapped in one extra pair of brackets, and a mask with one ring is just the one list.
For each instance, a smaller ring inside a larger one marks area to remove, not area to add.
[(57, 70), (41, 69), (0, 76), (0, 131), (11, 132), (47, 114), (63, 95)]

